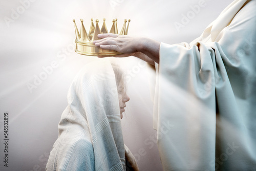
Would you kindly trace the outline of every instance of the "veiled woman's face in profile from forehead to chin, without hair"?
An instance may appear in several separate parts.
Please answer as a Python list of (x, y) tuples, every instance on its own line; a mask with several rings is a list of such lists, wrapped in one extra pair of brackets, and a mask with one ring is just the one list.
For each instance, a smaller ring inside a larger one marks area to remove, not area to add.
[(121, 119), (123, 118), (123, 112), (125, 111), (125, 102), (130, 100), (130, 97), (126, 94), (126, 91), (124, 89), (124, 84), (120, 83), (119, 86), (117, 87), (118, 91), (118, 99), (119, 99), (119, 108), (120, 108), (120, 116)]

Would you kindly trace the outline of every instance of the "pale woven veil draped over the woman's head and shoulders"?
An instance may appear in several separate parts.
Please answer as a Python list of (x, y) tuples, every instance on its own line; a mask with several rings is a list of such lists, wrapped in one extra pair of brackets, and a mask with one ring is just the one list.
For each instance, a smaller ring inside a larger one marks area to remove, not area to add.
[(73, 80), (46, 170), (125, 170), (118, 93), (109, 60), (85, 66)]

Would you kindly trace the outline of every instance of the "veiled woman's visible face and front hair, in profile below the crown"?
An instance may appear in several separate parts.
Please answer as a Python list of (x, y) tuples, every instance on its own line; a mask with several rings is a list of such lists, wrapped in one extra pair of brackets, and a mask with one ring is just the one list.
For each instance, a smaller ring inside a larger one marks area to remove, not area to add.
[(130, 97), (126, 94), (126, 85), (124, 82), (123, 71), (120, 69), (118, 65), (115, 63), (111, 63), (113, 71), (116, 77), (116, 87), (118, 92), (118, 99), (119, 99), (119, 109), (120, 109), (120, 116), (121, 119), (123, 117), (123, 112), (125, 111), (124, 108), (126, 106), (125, 102), (130, 100)]

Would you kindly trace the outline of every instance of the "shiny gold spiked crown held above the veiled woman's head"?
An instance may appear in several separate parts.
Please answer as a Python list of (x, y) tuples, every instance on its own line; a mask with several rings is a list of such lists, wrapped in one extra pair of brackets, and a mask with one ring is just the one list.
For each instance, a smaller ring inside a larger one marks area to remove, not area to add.
[[(114, 33), (118, 34), (117, 30), (117, 19), (113, 19), (113, 25), (112, 28), (110, 29), (110, 32), (108, 32), (108, 29), (106, 28), (105, 24), (105, 18), (103, 19), (103, 25), (101, 29), (99, 29), (99, 20), (96, 19), (96, 27), (94, 27), (93, 24), (93, 19), (91, 19), (91, 27), (89, 34), (87, 34), (86, 29), (83, 26), (83, 20), (81, 20), (81, 31), (80, 34), (78, 32), (77, 26), (76, 26), (76, 21), (73, 19), (73, 22), (75, 24), (75, 32), (76, 32), (76, 49), (75, 52), (81, 55), (88, 55), (88, 56), (112, 56), (112, 55), (117, 55), (120, 54), (117, 51), (113, 50), (108, 50), (108, 49), (101, 49), (100, 47), (97, 47), (93, 44), (94, 40), (99, 40), (98, 34), (100, 33)], [(131, 19), (128, 20), (128, 25), (126, 28), (126, 22), (127, 20), (124, 19), (124, 24), (121, 29), (120, 35), (127, 35), (128, 33), (128, 28), (129, 28), (129, 23)]]

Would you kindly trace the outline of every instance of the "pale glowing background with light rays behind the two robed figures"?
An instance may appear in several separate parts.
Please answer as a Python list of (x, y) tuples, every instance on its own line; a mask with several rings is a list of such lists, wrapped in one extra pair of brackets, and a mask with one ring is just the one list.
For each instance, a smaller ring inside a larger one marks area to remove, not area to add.
[[(189, 23), (180, 28), (182, 16), (191, 6), (204, 2)], [(189, 42), (232, 1), (149, 1), (94, 0), (42, 1), (20, 0), (0, 2), (0, 170), (45, 170), (51, 147), (58, 136), (57, 125), (67, 105), (67, 92), (76, 73), (96, 57), (76, 54), (73, 19), (79, 19), (89, 30), (91, 18), (106, 18), (110, 30), (112, 19), (131, 19), (129, 35), (147, 36), (168, 44)], [(15, 12), (17, 15), (15, 15)], [(7, 19), (7, 17), (9, 19)], [(7, 22), (7, 20), (9, 22)], [(55, 68), (44, 75), (55, 61)], [(135, 155), (141, 170), (162, 170), (152, 129), (153, 103), (150, 95), (152, 73), (141, 67), (135, 57), (117, 58), (130, 80), (131, 100), (122, 119), (124, 142)], [(29, 90), (41, 74), (45, 79)], [(166, 90), (167, 91), (167, 90)], [(8, 168), (4, 166), (4, 113), (9, 113)], [(152, 145), (149, 145), (153, 144)]]

